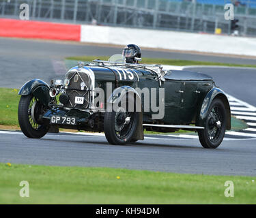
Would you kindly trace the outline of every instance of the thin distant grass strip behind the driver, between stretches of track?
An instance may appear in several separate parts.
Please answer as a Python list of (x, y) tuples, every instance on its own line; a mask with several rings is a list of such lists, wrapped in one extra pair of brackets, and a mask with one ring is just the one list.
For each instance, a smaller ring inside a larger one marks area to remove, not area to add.
[[(81, 56), (81, 57), (68, 57), (66, 60), (72, 61), (86, 61), (90, 62), (95, 59), (107, 61), (109, 57), (106, 56)], [(229, 67), (256, 67), (256, 65), (245, 65), (235, 63), (218, 63), (210, 61), (188, 61), (188, 60), (175, 60), (175, 59), (152, 59), (143, 58), (141, 63), (147, 64), (161, 64), (161, 65), (177, 65), (177, 66), (188, 66), (188, 65), (216, 65), (216, 66), (229, 66)]]

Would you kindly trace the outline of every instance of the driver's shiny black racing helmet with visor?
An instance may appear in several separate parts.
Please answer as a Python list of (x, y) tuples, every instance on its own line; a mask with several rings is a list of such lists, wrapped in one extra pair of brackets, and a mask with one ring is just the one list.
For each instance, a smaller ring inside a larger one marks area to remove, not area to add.
[(124, 47), (122, 55), (126, 59), (126, 63), (138, 63), (139, 59), (141, 59), (141, 48), (130, 44)]

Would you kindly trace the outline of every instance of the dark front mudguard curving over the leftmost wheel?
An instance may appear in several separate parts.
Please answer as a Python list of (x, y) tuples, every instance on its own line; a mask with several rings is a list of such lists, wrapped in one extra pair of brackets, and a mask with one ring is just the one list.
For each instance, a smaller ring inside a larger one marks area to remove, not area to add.
[(49, 95), (50, 87), (46, 82), (42, 80), (29, 80), (26, 82), (23, 87), (21, 87), (18, 95), (30, 95), (37, 97), (42, 104), (48, 106), (48, 103), (51, 102), (51, 97)]

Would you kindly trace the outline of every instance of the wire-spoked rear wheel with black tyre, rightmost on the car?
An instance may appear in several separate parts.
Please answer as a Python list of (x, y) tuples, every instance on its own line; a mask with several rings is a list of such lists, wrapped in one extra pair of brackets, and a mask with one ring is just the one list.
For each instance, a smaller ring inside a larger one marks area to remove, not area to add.
[(205, 149), (216, 149), (225, 136), (227, 113), (221, 99), (214, 99), (210, 105), (205, 129), (198, 132), (199, 140)]

